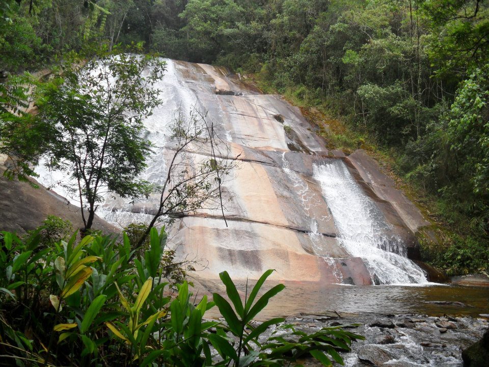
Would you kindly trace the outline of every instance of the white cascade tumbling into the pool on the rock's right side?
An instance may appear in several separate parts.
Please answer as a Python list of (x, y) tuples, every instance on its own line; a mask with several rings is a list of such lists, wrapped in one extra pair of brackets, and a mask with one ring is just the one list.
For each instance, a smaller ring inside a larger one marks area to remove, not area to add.
[(405, 257), (402, 240), (390, 233), (384, 215), (338, 159), (314, 165), (314, 178), (333, 214), (339, 244), (364, 260), (376, 284), (427, 282), (423, 270)]

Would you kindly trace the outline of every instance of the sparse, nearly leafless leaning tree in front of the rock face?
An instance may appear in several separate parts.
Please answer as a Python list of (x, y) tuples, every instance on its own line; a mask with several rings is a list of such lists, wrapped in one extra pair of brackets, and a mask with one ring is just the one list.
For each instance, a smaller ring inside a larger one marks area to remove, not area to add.
[(137, 247), (144, 243), (156, 224), (171, 223), (175, 218), (202, 209), (220, 210), (226, 221), (223, 205), (231, 193), (224, 191), (223, 185), (232, 178), (238, 157), (231, 156), (218, 130), (218, 126), (196, 108), (189, 116), (179, 112), (171, 126), (167, 175), (157, 188), (159, 203)]

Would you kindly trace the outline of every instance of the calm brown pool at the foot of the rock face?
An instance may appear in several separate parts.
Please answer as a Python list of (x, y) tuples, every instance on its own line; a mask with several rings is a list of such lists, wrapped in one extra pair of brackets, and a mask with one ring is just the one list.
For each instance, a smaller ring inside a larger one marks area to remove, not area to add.
[[(205, 289), (221, 294), (225, 289), (219, 281), (205, 281)], [(276, 284), (270, 281), (270, 286)], [(420, 313), (428, 316), (443, 314), (466, 315), (476, 317), (489, 312), (489, 288), (459, 285), (427, 286), (319, 286), (317, 283), (289, 282), (286, 289), (270, 300), (268, 306), (259, 315), (259, 319), (297, 314), (321, 314), (325, 311), (339, 313), (377, 313), (402, 314)], [(252, 284), (248, 286), (250, 292)], [(238, 283), (237, 289), (244, 298), (246, 283)], [(267, 289), (263, 289), (263, 293)], [(205, 290), (200, 290), (201, 292)], [(207, 291), (207, 293), (210, 293)], [(429, 302), (445, 302), (429, 303)], [(464, 305), (461, 305), (463, 303)], [(209, 316), (218, 316), (215, 309)]]

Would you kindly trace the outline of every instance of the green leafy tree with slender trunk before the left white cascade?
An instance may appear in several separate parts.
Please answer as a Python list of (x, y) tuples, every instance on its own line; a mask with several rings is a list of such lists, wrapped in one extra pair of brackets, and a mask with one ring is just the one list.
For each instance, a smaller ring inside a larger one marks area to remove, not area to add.
[[(70, 60), (63, 77), (38, 87), (39, 114), (30, 126), (11, 128), (3, 150), (24, 164), (37, 163), (44, 154), (49, 169), (66, 173), (68, 181), (61, 184), (88, 212), (82, 209), (85, 231), (107, 192), (136, 198), (152, 189), (136, 177), (151, 152), (143, 121), (160, 102), (152, 86), (165, 63), (152, 56), (105, 53), (83, 67), (73, 65), (79, 64)], [(20, 130), (37, 132), (34, 149), (17, 148), (26, 145), (22, 134), (12, 134)]]

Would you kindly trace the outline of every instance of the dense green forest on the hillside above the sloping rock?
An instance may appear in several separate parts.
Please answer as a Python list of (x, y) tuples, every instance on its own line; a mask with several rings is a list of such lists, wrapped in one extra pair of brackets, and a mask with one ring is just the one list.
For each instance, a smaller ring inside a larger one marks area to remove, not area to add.
[[(4, 0), (0, 69), (67, 50), (149, 51), (253, 74), (330, 118), (332, 147), (389, 156), (450, 246), (425, 256), (483, 270), (489, 243), (489, 8), (480, 0)], [(342, 128), (346, 125), (347, 129)], [(336, 128), (335, 128), (336, 127)], [(477, 255), (474, 256), (473, 254)], [(471, 255), (472, 254), (472, 255)], [(463, 257), (464, 261), (459, 261)]]

